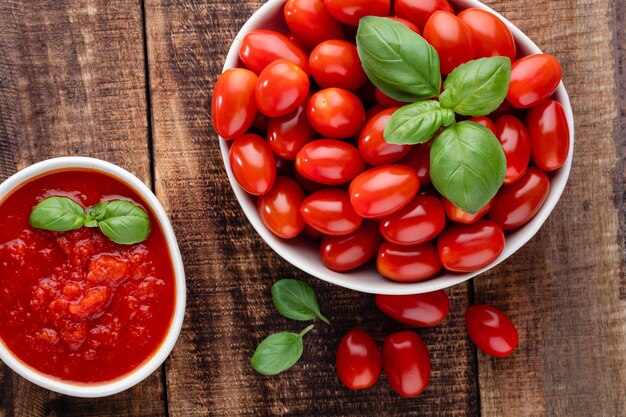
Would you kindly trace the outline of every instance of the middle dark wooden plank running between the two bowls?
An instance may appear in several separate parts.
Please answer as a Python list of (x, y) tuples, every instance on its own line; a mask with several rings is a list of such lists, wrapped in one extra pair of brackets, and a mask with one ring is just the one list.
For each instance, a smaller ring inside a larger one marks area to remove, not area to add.
[[(245, 220), (225, 176), (211, 128), (213, 84), (236, 31), (259, 1), (146, 1), (156, 192), (178, 233), (188, 277), (183, 334), (167, 365), (172, 417), (204, 415), (438, 415), (478, 413), (474, 354), (462, 324), (468, 286), (452, 290), (445, 326), (420, 331), (433, 357), (427, 392), (398, 397), (381, 381), (364, 392), (343, 388), (334, 354), (361, 326), (382, 344), (403, 328), (371, 296), (326, 285), (274, 254)], [(256, 345), (302, 324), (279, 316), (269, 289), (283, 277), (310, 282), (332, 327), (307, 338), (305, 357), (278, 377), (254, 373)]]

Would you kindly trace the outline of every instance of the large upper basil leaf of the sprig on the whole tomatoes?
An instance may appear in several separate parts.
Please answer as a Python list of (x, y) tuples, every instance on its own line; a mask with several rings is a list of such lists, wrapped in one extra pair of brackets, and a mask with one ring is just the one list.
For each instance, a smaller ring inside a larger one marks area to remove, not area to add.
[(389, 97), (414, 102), (439, 95), (437, 51), (402, 23), (363, 17), (356, 45), (368, 78)]

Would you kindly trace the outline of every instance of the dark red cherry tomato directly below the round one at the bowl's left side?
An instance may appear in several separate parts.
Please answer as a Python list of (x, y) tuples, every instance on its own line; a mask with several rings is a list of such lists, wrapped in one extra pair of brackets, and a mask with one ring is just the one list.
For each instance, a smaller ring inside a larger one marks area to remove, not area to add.
[(281, 158), (296, 159), (304, 145), (315, 139), (315, 131), (306, 115), (306, 105), (285, 116), (270, 119), (267, 125), (267, 142)]

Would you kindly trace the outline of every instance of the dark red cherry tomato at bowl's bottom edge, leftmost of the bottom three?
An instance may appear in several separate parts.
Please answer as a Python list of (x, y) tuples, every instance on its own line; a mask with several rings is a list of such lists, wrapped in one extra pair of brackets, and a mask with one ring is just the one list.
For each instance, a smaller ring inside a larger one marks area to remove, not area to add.
[(356, 231), (345, 236), (325, 236), (320, 247), (322, 262), (333, 271), (349, 271), (363, 265), (376, 255), (381, 241), (378, 225), (363, 222)]

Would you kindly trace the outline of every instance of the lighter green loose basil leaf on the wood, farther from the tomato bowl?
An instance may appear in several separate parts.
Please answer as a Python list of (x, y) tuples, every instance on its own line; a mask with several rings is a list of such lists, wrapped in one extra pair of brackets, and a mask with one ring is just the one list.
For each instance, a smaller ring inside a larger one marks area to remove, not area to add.
[(256, 348), (250, 364), (260, 374), (276, 375), (291, 368), (302, 356), (302, 337), (313, 329), (311, 324), (299, 334), (281, 332), (267, 337)]

